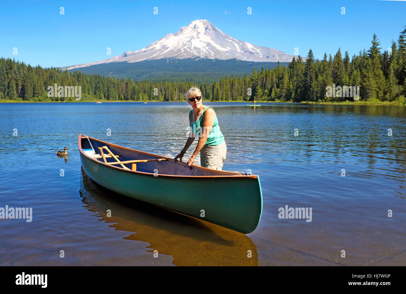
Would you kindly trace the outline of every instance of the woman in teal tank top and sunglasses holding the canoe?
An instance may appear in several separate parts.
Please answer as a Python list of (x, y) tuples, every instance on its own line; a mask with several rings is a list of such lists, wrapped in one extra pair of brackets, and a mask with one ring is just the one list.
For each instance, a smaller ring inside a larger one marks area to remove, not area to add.
[(202, 93), (198, 88), (190, 88), (185, 93), (185, 97), (192, 106), (192, 110), (189, 112), (190, 135), (185, 147), (174, 161), (176, 162), (178, 158), (182, 161), (189, 146), (196, 137), (199, 137), (196, 149), (188, 160), (188, 166), (194, 163), (194, 159), (200, 151), (201, 166), (221, 170), (226, 159), (227, 145), (218, 126), (216, 113), (212, 107), (202, 104)]

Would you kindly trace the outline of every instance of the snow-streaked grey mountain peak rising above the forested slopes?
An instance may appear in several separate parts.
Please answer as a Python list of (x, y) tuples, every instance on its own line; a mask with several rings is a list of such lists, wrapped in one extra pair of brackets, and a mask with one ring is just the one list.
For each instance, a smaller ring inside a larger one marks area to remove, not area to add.
[(234, 39), (206, 19), (198, 19), (192, 21), (188, 26), (181, 27), (175, 34), (169, 33), (143, 49), (126, 51), (122, 55), (108, 59), (63, 67), (62, 69), (77, 69), (109, 62), (138, 62), (162, 58), (223, 60), (236, 58), (253, 62), (290, 62), (293, 56), (276, 49), (256, 46)]

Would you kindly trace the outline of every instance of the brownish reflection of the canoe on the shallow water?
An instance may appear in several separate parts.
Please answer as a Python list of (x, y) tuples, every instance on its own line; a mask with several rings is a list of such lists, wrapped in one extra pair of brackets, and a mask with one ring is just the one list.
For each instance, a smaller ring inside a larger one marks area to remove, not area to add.
[[(257, 247), (244, 234), (113, 193), (83, 169), (79, 192), (84, 207), (98, 220), (134, 232), (125, 239), (148, 242), (147, 252), (171, 255), (177, 266), (258, 266)], [(108, 209), (111, 217), (106, 216)]]

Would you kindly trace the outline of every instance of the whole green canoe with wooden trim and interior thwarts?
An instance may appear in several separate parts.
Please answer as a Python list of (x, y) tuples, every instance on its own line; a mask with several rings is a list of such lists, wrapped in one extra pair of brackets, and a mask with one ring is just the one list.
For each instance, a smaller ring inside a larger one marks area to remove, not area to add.
[(190, 168), (84, 135), (78, 146), (84, 172), (116, 193), (242, 234), (253, 232), (261, 219), (259, 176)]

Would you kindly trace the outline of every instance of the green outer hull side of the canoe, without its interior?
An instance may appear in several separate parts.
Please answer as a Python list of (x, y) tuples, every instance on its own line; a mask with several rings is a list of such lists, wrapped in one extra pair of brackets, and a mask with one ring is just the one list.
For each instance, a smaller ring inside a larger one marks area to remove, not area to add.
[(99, 185), (140, 201), (243, 234), (253, 232), (261, 218), (259, 176), (154, 175), (123, 170), (84, 152), (80, 152), (80, 159), (86, 174)]

